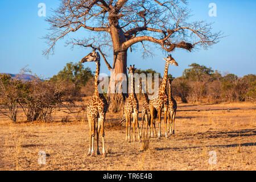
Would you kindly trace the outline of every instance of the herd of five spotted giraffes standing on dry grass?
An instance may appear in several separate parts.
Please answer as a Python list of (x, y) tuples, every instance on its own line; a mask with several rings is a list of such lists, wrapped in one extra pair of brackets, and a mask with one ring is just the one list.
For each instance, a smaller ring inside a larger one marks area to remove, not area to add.
[[(126, 98), (124, 106), (124, 115), (123, 118), (126, 120), (126, 141), (131, 142), (130, 129), (131, 129), (131, 115), (133, 115), (133, 140), (136, 141), (135, 137), (135, 127), (137, 127), (138, 140), (141, 142), (142, 129), (144, 119), (146, 121), (146, 135), (154, 137), (156, 135), (155, 121), (158, 121), (158, 138), (161, 137), (160, 125), (161, 125), (161, 114), (162, 109), (164, 108), (164, 127), (165, 127), (165, 136), (168, 137), (168, 133), (174, 134), (174, 121), (176, 115), (177, 104), (174, 98), (172, 97), (171, 89), (171, 78), (168, 78), (168, 67), (169, 65), (178, 65), (177, 62), (171, 55), (168, 55), (167, 58), (163, 58), (166, 61), (164, 67), (164, 76), (163, 81), (159, 86), (157, 92), (152, 96), (152, 99), (148, 99), (147, 93), (143, 93), (144, 102), (142, 105), (142, 126), (141, 131), (139, 132), (139, 123), (138, 123), (138, 113), (139, 113), (139, 102), (136, 94), (134, 93), (134, 72), (136, 68), (134, 65), (130, 68), (127, 67), (130, 78), (131, 78), (131, 90), (129, 96)], [(88, 155), (94, 156), (94, 137), (96, 134), (97, 139), (97, 154), (100, 154), (98, 149), (98, 138), (101, 133), (102, 135), (102, 155), (106, 157), (105, 142), (104, 142), (104, 122), (106, 111), (108, 110), (108, 102), (106, 101), (104, 95), (98, 92), (98, 75), (100, 73), (100, 55), (96, 52), (96, 49), (89, 55), (85, 56), (81, 63), (94, 61), (96, 63), (96, 72), (94, 76), (94, 94), (88, 102), (87, 107), (87, 118), (89, 123), (89, 151)], [(167, 95), (167, 82), (169, 85), (169, 93)], [(168, 115), (168, 123), (167, 123)], [(96, 121), (97, 126), (96, 126)], [(148, 130), (149, 128), (149, 130)], [(153, 133), (154, 130), (154, 133)], [(151, 133), (150, 133), (151, 131)]]

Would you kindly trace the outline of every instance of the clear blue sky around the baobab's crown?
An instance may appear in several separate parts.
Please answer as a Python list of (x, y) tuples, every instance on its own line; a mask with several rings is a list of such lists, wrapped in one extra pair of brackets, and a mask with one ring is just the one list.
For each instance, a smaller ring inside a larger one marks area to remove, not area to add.
[[(75, 47), (72, 50), (65, 47), (65, 40), (61, 40), (55, 47), (55, 55), (49, 59), (42, 55), (47, 44), (40, 38), (47, 34), (49, 24), (44, 17), (38, 16), (38, 4), (41, 2), (46, 4), (46, 15), (51, 15), (50, 10), (59, 5), (57, 0), (0, 1), (0, 72), (18, 73), (27, 65), (27, 68), (39, 76), (52, 77), (66, 63), (78, 62), (89, 53), (90, 49)], [(217, 5), (217, 17), (208, 15), (208, 5), (212, 2)], [(179, 77), (189, 64), (198, 63), (237, 76), (256, 74), (256, 1), (193, 0), (189, 1), (188, 7), (192, 10), (193, 19), (214, 22), (213, 30), (221, 30), (228, 36), (208, 50), (188, 52), (176, 49), (172, 56), (179, 63), (179, 67), (170, 67), (169, 73)], [(108, 60), (112, 63), (112, 52), (109, 55)], [(142, 59), (139, 51), (133, 51), (128, 53), (127, 64), (135, 64), (135, 67), (142, 69), (152, 68), (163, 73), (164, 56), (160, 47), (155, 50), (154, 57), (147, 59)], [(96, 68), (93, 63), (85, 66), (92, 71)], [(104, 63), (101, 64), (101, 72), (109, 74)]]

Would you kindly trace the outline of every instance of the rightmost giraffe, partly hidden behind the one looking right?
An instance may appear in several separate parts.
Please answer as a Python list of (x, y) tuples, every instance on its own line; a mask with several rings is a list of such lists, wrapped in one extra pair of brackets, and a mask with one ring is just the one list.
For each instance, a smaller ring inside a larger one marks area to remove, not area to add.
[[(168, 105), (168, 129), (170, 134), (174, 134), (174, 121), (175, 121), (175, 115), (176, 115), (176, 109), (177, 109), (177, 103), (172, 97), (172, 78), (168, 78), (168, 84), (169, 84), (169, 105)], [(171, 127), (169, 127), (171, 125)], [(173, 128), (172, 128), (173, 126)], [(167, 129), (167, 130), (168, 130)]]

